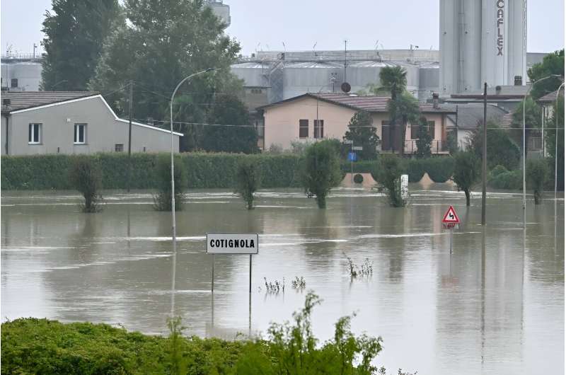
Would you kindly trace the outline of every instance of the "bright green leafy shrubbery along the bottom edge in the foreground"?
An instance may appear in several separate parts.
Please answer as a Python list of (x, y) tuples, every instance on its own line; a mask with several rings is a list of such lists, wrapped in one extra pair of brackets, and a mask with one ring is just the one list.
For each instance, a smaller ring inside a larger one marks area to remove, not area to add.
[[(105, 324), (21, 318), (2, 323), (2, 374), (375, 374), (381, 337), (356, 336), (352, 316), (319, 345), (311, 326), (320, 304), (306, 295), (292, 323), (272, 324), (267, 340), (184, 337), (180, 318), (169, 337), (128, 333)], [(380, 370), (381, 371), (381, 370)], [(383, 370), (384, 371), (384, 370)]]

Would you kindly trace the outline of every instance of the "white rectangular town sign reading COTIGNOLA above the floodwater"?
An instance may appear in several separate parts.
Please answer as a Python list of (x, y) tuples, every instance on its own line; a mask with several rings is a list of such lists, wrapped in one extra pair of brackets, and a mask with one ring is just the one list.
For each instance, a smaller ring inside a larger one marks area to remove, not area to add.
[(258, 233), (207, 233), (208, 254), (257, 254)]

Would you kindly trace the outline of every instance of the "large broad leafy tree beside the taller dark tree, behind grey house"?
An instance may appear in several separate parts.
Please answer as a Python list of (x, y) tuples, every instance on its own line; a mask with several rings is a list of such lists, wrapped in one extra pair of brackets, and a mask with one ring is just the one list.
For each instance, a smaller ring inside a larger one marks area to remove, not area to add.
[[(236, 95), (241, 81), (230, 72), (240, 45), (224, 33), (226, 25), (202, 0), (125, 0), (126, 22), (108, 37), (96, 76), (89, 87), (109, 93), (106, 98), (117, 113), (124, 113), (127, 83), (134, 81), (134, 116), (168, 120), (171, 93), (190, 74), (208, 68), (181, 86), (173, 103), (178, 122), (203, 123), (217, 94)], [(115, 93), (112, 93), (115, 91)], [(229, 122), (233, 123), (233, 121)], [(202, 139), (199, 127), (182, 127), (187, 135), (181, 149), (197, 149)], [(192, 140), (192, 141), (191, 141)]]

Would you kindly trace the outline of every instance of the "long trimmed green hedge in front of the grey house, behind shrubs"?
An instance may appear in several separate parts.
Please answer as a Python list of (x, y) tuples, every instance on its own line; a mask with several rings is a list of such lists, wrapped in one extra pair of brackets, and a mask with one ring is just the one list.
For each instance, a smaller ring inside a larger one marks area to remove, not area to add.
[[(103, 171), (104, 189), (127, 188), (127, 154), (94, 154), (91, 156)], [(156, 188), (158, 154), (132, 154), (132, 189)], [(295, 178), (299, 156), (244, 154), (181, 154), (188, 175), (188, 188), (233, 188), (236, 165), (240, 158), (258, 161), (263, 188), (299, 186)], [(68, 190), (69, 168), (76, 156), (37, 155), (2, 156), (2, 190)]]

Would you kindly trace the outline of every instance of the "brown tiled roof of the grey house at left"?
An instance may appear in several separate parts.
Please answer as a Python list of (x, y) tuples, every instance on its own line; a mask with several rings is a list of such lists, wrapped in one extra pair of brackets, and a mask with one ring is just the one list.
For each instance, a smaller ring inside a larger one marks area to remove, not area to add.
[[(13, 112), (96, 95), (98, 93), (91, 91), (3, 91), (2, 112)], [(6, 99), (10, 100), (10, 105), (4, 105)]]

